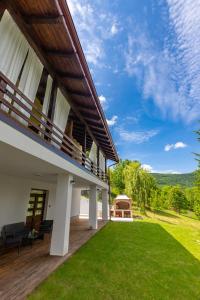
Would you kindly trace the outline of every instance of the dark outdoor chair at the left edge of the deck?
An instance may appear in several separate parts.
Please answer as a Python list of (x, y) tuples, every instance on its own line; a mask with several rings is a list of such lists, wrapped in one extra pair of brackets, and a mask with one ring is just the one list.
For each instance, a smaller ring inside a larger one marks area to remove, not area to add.
[(3, 247), (17, 247), (19, 254), (23, 240), (27, 239), (28, 234), (29, 229), (25, 226), (24, 222), (4, 225), (1, 233)]

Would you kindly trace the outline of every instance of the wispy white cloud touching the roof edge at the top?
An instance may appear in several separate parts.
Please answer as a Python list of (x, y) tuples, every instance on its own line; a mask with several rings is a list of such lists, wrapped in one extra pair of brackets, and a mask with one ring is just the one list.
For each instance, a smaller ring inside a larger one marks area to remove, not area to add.
[(67, 0), (88, 63), (105, 66), (105, 40), (117, 34), (117, 17), (90, 0)]

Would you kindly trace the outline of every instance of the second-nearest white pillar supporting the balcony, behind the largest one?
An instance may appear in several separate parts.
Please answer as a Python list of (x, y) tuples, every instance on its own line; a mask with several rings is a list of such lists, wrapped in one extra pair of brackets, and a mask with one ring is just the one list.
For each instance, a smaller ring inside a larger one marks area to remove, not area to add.
[(89, 193), (89, 225), (92, 229), (97, 229), (97, 187), (93, 185), (90, 187)]

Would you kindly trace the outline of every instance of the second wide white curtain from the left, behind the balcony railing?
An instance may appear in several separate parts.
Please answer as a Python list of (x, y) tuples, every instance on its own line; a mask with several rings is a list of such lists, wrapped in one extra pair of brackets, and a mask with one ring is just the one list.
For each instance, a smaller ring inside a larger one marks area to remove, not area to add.
[[(28, 57), (21, 75), (21, 79), (19, 82), (19, 90), (31, 100), (31, 102), (35, 101), (35, 96), (38, 90), (38, 86), (40, 83), (41, 75), (42, 75), (43, 65), (41, 64), (39, 58), (35, 54), (32, 48), (29, 48)], [(20, 97), (18, 97), (20, 98)], [(24, 103), (29, 109), (31, 106), (27, 104), (27, 102), (20, 98), (21, 102)], [(30, 114), (24, 110), (22, 107), (15, 104), (19, 111), (21, 111), (28, 118)], [(22, 118), (15, 116), (21, 123), (27, 125), (27, 122), (22, 120)]]

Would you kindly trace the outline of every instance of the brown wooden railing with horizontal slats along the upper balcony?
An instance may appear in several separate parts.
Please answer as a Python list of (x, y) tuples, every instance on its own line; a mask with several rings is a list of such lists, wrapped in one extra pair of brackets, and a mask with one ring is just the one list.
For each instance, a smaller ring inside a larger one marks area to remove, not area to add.
[(2, 72), (0, 72), (0, 111), (14, 118), (46, 143), (64, 152), (101, 180), (107, 182), (105, 172), (87, 157), (86, 153), (80, 150), (76, 143), (39, 110)]

